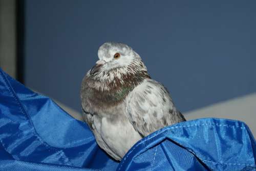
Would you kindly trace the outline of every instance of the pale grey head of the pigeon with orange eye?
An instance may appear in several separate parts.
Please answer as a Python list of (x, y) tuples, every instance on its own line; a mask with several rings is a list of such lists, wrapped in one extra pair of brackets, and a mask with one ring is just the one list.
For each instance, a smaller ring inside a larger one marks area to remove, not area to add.
[(90, 70), (91, 76), (98, 76), (102, 73), (116, 72), (116, 74), (126, 74), (126, 72), (146, 71), (140, 56), (133, 49), (123, 43), (106, 42), (99, 47), (99, 60)]

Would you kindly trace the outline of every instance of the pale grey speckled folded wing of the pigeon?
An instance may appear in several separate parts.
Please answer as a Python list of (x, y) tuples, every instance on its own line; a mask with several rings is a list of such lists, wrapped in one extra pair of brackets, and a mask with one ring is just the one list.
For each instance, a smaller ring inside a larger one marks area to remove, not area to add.
[(168, 90), (151, 79), (145, 79), (129, 93), (125, 106), (127, 118), (143, 136), (185, 121), (184, 116), (176, 110)]

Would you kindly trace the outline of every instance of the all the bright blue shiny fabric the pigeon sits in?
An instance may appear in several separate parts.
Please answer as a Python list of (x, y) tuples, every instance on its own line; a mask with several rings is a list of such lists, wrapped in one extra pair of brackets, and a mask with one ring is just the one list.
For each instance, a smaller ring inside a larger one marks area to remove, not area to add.
[(0, 170), (255, 170), (255, 157), (246, 124), (204, 118), (154, 132), (119, 163), (86, 124), (0, 69)]

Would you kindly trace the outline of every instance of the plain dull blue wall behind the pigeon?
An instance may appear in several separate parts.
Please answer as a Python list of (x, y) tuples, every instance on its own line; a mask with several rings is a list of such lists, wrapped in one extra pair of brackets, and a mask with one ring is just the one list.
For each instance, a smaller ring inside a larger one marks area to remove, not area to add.
[(25, 84), (80, 110), (105, 41), (129, 44), (189, 111), (256, 92), (255, 1), (25, 1)]

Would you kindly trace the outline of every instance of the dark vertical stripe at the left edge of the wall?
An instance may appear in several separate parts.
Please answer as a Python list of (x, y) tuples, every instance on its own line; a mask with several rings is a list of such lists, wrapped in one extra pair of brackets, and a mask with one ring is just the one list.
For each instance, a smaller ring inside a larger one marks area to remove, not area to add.
[(16, 0), (16, 62), (17, 80), (24, 84), (25, 70), (25, 0)]

